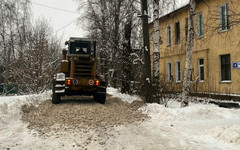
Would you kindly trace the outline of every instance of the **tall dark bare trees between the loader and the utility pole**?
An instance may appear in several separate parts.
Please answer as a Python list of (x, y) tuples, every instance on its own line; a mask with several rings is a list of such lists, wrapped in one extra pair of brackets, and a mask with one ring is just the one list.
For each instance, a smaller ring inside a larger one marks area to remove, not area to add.
[[(121, 86), (126, 80), (131, 80), (124, 77), (126, 71), (123, 71), (123, 68), (126, 63), (129, 64), (129, 67), (133, 64), (130, 56), (132, 46), (130, 45), (132, 42), (138, 43), (137, 40), (141, 41), (141, 38), (133, 37), (133, 35), (139, 35), (136, 34), (136, 30), (134, 34), (131, 34), (132, 30), (137, 29), (140, 25), (135, 21), (139, 19), (134, 15), (139, 11), (137, 5), (139, 2), (136, 0), (87, 1), (84, 18), (88, 20), (89, 36), (98, 41), (99, 70), (105, 75), (108, 85), (113, 87)], [(126, 32), (129, 32), (130, 36), (127, 36)], [(129, 50), (127, 56), (126, 44)], [(127, 73), (132, 72), (128, 71)]]

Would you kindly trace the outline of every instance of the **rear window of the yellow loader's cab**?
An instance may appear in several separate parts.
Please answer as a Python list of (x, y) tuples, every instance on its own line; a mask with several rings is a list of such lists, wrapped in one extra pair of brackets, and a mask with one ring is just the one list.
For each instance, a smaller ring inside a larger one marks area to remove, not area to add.
[(90, 42), (71, 42), (70, 43), (71, 54), (91, 54)]

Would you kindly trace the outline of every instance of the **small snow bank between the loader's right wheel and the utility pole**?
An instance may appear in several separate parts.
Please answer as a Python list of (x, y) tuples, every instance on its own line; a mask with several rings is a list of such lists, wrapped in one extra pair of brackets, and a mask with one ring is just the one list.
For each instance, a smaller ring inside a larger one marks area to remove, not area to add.
[(122, 94), (118, 89), (112, 87), (107, 88), (107, 93), (112, 95), (113, 97), (118, 97), (128, 103), (132, 103), (133, 101), (141, 101), (141, 98), (139, 96)]

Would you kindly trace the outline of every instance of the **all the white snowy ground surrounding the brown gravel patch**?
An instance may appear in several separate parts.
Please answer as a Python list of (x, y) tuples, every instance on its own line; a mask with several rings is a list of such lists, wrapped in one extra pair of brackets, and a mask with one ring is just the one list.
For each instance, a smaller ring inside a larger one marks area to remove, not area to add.
[[(137, 96), (123, 95), (113, 88), (108, 88), (108, 93), (130, 103), (139, 100)], [(240, 149), (240, 109), (194, 103), (179, 108), (180, 104), (175, 101), (170, 102), (169, 108), (158, 104), (142, 106), (139, 111), (151, 117), (144, 122), (88, 132), (54, 126), (58, 134), (52, 132), (48, 137), (41, 137), (20, 120), (21, 107), (39, 105), (50, 99), (50, 95), (46, 92), (0, 97), (0, 149)]]

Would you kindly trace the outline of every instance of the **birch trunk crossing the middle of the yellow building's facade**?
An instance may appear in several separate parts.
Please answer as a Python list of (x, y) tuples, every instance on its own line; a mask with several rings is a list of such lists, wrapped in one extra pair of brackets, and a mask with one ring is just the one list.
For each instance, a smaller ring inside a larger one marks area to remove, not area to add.
[(194, 45), (194, 13), (195, 13), (195, 0), (190, 0), (190, 8), (188, 12), (188, 35), (187, 35), (187, 51), (186, 62), (182, 87), (182, 103), (181, 107), (188, 106), (188, 95), (191, 86), (190, 77), (192, 73), (192, 53)]

